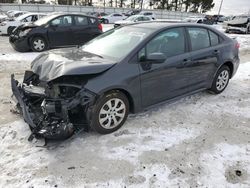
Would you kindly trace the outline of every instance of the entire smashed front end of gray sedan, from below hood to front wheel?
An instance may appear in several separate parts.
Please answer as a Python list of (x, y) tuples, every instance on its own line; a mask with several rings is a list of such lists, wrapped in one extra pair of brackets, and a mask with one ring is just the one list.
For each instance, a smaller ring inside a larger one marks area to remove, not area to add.
[(87, 129), (87, 107), (96, 95), (83, 85), (64, 82), (40, 82), (26, 71), (23, 83), (11, 75), (12, 92), (25, 122), (34, 137), (66, 139), (79, 129)]

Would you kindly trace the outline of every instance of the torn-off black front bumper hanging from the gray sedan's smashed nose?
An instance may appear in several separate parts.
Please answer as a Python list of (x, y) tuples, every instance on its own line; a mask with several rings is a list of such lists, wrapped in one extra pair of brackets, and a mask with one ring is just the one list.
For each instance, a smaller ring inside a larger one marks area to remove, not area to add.
[(62, 140), (72, 136), (76, 127), (70, 119), (70, 110), (86, 106), (93, 100), (87, 93), (71, 100), (50, 99), (41, 88), (20, 84), (14, 74), (11, 75), (11, 88), (17, 107), (31, 129), (29, 140), (34, 137)]

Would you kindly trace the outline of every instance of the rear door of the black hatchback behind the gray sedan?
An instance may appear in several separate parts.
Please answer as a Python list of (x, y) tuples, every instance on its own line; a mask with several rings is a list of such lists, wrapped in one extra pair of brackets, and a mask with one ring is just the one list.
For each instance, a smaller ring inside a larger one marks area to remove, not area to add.
[(74, 45), (84, 44), (98, 35), (97, 24), (92, 23), (97, 20), (94, 18), (91, 19), (93, 19), (93, 21), (86, 16), (82, 15), (74, 16), (74, 26), (72, 27), (72, 34), (73, 34), (72, 44)]

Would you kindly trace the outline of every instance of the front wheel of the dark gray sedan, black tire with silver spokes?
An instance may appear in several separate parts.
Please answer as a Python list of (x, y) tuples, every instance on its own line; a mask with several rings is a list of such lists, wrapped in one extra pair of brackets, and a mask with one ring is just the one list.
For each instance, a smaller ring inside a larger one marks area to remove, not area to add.
[[(115, 102), (120, 101), (115, 106)], [(115, 109), (117, 107), (117, 111), (113, 111), (108, 107), (108, 104), (111, 102), (111, 107)], [(119, 106), (120, 105), (120, 106)], [(119, 110), (119, 108), (125, 106), (124, 110)], [(118, 130), (126, 121), (129, 113), (129, 101), (122, 92), (120, 91), (110, 91), (103, 96), (101, 96), (95, 103), (94, 106), (90, 107), (91, 109), (88, 110), (88, 122), (90, 125), (90, 128), (95, 130), (96, 132), (100, 134), (109, 134), (116, 130)], [(104, 110), (105, 109), (105, 110)], [(102, 113), (104, 110), (105, 113)], [(102, 111), (102, 112), (101, 112)], [(106, 113), (107, 112), (107, 113)], [(112, 114), (113, 113), (113, 114)], [(124, 115), (122, 118), (119, 119), (119, 116), (117, 115)], [(115, 125), (115, 120), (117, 121), (117, 124)], [(106, 120), (105, 120), (106, 119)], [(105, 121), (104, 121), (105, 120)], [(103, 123), (101, 124), (101, 121)], [(109, 124), (110, 122), (110, 124)], [(113, 123), (113, 127), (112, 127)], [(106, 125), (104, 125), (106, 124)], [(110, 127), (108, 127), (110, 125)]]

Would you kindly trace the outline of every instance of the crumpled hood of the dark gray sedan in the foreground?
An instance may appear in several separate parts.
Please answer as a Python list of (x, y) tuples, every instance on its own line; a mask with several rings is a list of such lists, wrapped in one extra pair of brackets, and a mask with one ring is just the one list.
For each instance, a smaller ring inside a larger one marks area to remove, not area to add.
[(102, 73), (115, 64), (113, 60), (70, 48), (39, 55), (31, 63), (31, 69), (41, 81), (49, 82), (61, 76)]

